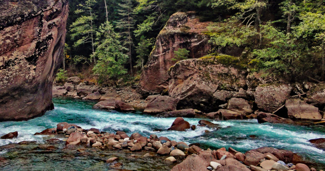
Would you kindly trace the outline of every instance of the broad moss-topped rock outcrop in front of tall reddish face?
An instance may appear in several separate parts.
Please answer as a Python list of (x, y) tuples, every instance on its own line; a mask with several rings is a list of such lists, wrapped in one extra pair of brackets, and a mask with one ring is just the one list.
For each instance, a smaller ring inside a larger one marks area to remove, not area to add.
[(214, 93), (218, 89), (239, 91), (245, 88), (246, 72), (219, 62), (220, 58), (207, 57), (177, 62), (170, 68), (169, 95), (178, 100), (177, 108), (216, 111)]

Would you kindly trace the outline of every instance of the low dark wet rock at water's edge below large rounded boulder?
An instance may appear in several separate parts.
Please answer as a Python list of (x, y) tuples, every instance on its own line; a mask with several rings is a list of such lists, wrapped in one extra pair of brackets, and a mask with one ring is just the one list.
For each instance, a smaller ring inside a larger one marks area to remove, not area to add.
[(285, 124), (295, 124), (295, 122), (291, 119), (282, 118), (278, 115), (271, 113), (259, 112), (257, 115), (258, 123), (285, 123)]

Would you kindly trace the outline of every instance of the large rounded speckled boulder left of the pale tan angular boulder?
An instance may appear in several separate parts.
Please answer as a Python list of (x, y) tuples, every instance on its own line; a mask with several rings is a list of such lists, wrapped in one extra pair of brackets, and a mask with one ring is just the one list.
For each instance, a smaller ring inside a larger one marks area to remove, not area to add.
[(290, 97), (291, 90), (287, 84), (260, 85), (255, 90), (255, 103), (262, 111), (272, 113)]

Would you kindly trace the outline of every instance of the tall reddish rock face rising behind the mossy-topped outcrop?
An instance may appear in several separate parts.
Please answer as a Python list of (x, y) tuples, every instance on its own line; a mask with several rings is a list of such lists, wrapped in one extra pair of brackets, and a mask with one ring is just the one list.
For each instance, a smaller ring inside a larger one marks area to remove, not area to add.
[(143, 93), (157, 94), (168, 89), (167, 70), (175, 64), (172, 58), (174, 51), (185, 48), (190, 51), (191, 58), (200, 58), (210, 50), (209, 38), (202, 32), (206, 31), (208, 22), (191, 19), (185, 13), (175, 13), (157, 36), (155, 48), (141, 76)]

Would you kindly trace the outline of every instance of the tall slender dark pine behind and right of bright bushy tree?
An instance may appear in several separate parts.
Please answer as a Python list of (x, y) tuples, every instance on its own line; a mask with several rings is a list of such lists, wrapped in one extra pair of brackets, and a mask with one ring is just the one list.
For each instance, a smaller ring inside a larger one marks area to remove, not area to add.
[(118, 14), (120, 20), (116, 22), (116, 27), (120, 29), (120, 34), (122, 36), (123, 45), (128, 48), (128, 57), (130, 63), (131, 75), (133, 76), (133, 65), (132, 65), (132, 49), (134, 47), (132, 31), (134, 30), (135, 21), (133, 18), (133, 4), (131, 0), (122, 0), (119, 4), (120, 9)]

